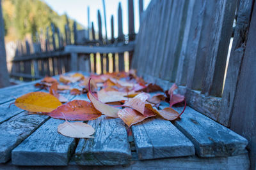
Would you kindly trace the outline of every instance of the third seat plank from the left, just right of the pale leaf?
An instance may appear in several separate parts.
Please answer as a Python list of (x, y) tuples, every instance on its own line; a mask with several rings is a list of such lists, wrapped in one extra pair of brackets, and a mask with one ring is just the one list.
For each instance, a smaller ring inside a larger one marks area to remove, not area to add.
[(124, 122), (102, 116), (90, 120), (95, 138), (81, 139), (72, 160), (79, 165), (122, 165), (131, 161), (131, 150)]

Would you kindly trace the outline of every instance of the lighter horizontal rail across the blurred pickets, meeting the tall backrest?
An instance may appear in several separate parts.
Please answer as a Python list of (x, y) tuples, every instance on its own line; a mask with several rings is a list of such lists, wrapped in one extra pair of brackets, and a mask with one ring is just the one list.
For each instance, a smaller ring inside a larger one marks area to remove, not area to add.
[(82, 46), (82, 45), (68, 45), (65, 46), (65, 52), (76, 53), (122, 53), (129, 52), (134, 49), (134, 42), (123, 46)]

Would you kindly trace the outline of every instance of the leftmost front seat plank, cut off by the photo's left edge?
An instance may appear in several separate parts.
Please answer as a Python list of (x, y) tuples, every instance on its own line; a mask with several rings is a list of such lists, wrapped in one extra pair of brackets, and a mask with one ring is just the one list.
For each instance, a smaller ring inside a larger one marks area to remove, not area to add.
[(0, 124), (0, 162), (7, 162), (19, 143), (48, 119), (45, 115), (29, 115), (27, 111)]

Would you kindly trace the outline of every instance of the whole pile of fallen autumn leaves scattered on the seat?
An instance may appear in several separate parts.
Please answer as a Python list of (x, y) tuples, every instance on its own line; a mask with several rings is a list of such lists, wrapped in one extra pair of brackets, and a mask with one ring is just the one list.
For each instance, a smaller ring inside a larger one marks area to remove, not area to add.
[[(77, 81), (79, 81), (79, 88), (70, 88), (68, 84), (74, 84)], [(148, 117), (175, 120), (184, 112), (183, 110), (182, 113), (178, 113), (171, 108), (173, 104), (184, 103), (184, 96), (173, 94), (177, 89), (175, 84), (163, 93), (161, 87), (146, 83), (136, 76), (133, 70), (129, 73), (92, 74), (90, 77), (80, 73), (61, 75), (59, 81), (52, 77), (45, 77), (35, 86), (49, 92), (25, 94), (16, 99), (15, 105), (29, 113), (65, 119), (65, 123), (58, 126), (58, 132), (72, 138), (93, 138), (91, 135), (95, 130), (83, 122), (68, 122), (68, 120), (93, 120), (106, 115), (111, 118), (121, 118), (128, 127), (131, 127)], [(84, 100), (68, 102), (68, 99), (60, 94), (61, 91), (72, 95), (87, 94), (90, 102)], [(152, 97), (148, 94), (157, 91), (161, 93)], [(161, 101), (168, 101), (170, 107), (159, 110)]]

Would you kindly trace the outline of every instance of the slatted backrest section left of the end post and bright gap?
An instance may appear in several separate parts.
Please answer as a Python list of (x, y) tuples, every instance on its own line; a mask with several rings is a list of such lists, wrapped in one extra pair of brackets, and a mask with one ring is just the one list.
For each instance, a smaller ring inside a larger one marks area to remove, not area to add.
[(236, 1), (152, 0), (132, 67), (166, 88), (182, 85), (190, 106), (218, 120), (235, 11)]

